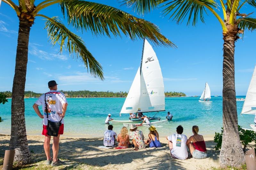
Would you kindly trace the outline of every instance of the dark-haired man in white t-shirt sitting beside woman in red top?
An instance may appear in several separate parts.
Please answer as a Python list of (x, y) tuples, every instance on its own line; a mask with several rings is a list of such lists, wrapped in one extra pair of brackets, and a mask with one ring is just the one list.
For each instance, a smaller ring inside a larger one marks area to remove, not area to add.
[(186, 142), (188, 140), (186, 135), (182, 135), (183, 127), (179, 125), (176, 128), (177, 134), (172, 134), (166, 139), (168, 140), (172, 158), (185, 160), (188, 158), (188, 151)]

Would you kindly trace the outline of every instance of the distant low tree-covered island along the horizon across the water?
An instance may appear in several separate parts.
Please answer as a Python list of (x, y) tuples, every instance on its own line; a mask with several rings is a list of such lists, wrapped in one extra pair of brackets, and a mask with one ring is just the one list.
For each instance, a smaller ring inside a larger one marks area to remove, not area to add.
[[(91, 92), (88, 90), (80, 90), (80, 91), (63, 91), (60, 90), (60, 92), (63, 92), (66, 97), (81, 97), (81, 98), (90, 98), (90, 97), (126, 97), (128, 92)], [(5, 91), (1, 92), (4, 93), (7, 98), (12, 97), (12, 92)], [(186, 94), (183, 92), (164, 92), (165, 97), (185, 97)], [(42, 95), (42, 93), (36, 93), (33, 91), (25, 91), (24, 97), (25, 98), (38, 98)]]

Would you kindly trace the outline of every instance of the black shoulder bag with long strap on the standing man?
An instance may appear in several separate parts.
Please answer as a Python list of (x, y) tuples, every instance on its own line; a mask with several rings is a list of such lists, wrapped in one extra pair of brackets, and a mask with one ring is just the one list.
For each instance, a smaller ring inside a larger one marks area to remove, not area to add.
[(45, 102), (45, 109), (46, 109), (46, 114), (47, 114), (47, 135), (49, 136), (54, 136), (54, 137), (57, 137), (58, 134), (59, 134), (59, 129), (60, 129), (60, 125), (61, 125), (61, 120), (62, 118), (60, 119), (60, 122), (51, 122), (49, 119), (48, 119), (48, 107), (47, 107), (47, 103), (46, 103), (46, 94), (44, 94), (44, 102)]

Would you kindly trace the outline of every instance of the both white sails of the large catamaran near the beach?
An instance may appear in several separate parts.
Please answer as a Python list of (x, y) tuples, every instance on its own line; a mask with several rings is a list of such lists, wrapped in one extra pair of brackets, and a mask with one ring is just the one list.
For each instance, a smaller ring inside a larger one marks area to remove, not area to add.
[(159, 111), (165, 111), (162, 71), (155, 51), (144, 39), (140, 67), (124, 101), (120, 116), (121, 114)]

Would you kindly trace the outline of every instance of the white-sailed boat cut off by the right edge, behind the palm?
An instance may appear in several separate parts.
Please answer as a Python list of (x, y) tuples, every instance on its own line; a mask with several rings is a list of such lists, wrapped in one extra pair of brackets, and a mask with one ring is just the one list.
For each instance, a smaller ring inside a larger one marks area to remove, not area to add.
[(241, 114), (255, 115), (255, 118), (254, 118), (255, 124), (250, 124), (252, 129), (248, 129), (248, 130), (256, 131), (256, 66), (254, 68), (252, 79), (246, 93)]

